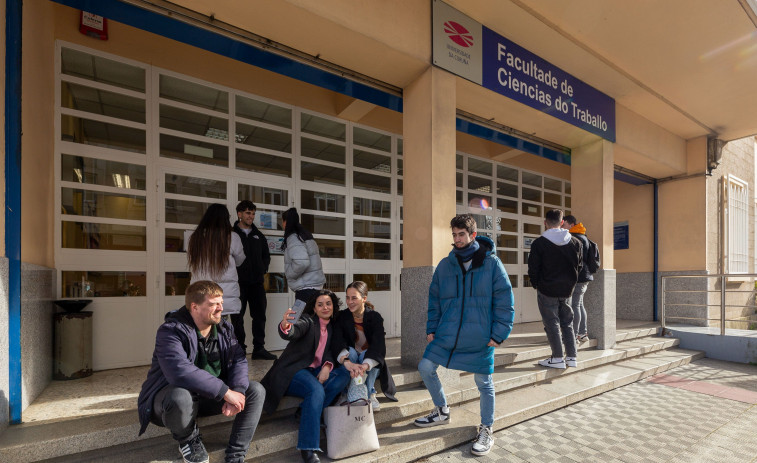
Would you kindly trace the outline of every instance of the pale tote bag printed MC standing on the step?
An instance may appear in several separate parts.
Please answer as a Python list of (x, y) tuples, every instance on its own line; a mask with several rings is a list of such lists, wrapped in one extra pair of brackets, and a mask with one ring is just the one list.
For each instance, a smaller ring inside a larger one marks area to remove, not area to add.
[(323, 413), (329, 458), (347, 458), (378, 450), (376, 423), (368, 400), (327, 407)]

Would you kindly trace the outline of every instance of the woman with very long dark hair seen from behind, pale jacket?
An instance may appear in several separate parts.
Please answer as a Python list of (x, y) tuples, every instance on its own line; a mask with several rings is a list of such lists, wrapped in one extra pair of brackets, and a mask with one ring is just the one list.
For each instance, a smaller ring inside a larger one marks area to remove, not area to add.
[(242, 308), (237, 267), (244, 262), (244, 248), (239, 236), (231, 232), (230, 217), (226, 206), (211, 204), (194, 232), (185, 233), (190, 284), (201, 280), (217, 283), (223, 289), (224, 315), (239, 313)]

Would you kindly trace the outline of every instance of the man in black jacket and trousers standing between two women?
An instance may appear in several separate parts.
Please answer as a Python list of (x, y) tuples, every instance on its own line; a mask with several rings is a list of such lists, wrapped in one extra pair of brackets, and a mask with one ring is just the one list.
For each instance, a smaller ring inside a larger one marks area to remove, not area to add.
[(242, 309), (238, 314), (231, 316), (231, 323), (234, 325), (239, 344), (246, 350), (244, 313), (249, 304), (250, 317), (252, 317), (252, 358), (276, 360), (275, 355), (265, 350), (265, 310), (268, 300), (265, 296), (263, 277), (268, 273), (271, 254), (268, 252), (268, 241), (253, 223), (256, 210), (257, 206), (247, 199), (237, 204), (239, 220), (234, 224), (234, 231), (242, 240), (245, 260), (237, 267)]

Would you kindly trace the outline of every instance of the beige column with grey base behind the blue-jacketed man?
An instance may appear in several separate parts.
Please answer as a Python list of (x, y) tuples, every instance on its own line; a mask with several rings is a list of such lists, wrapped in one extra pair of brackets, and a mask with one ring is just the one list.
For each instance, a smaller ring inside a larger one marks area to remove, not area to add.
[(430, 67), (403, 91), (402, 365), (426, 348), (428, 287), (455, 215), (455, 77)]

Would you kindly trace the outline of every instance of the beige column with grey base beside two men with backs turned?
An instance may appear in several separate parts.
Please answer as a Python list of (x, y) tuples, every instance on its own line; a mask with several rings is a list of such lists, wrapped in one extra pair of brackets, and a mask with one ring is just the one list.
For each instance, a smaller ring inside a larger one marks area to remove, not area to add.
[(613, 144), (598, 140), (572, 151), (571, 211), (597, 243), (602, 267), (584, 296), (589, 337), (599, 349), (615, 345), (615, 269), (613, 259)]

